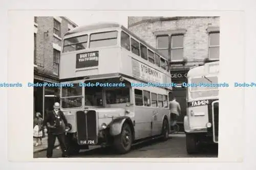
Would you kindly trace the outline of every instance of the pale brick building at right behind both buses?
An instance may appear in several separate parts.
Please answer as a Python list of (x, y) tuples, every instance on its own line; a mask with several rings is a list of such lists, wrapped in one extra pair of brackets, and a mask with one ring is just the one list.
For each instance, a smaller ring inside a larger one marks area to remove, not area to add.
[[(187, 71), (205, 62), (219, 60), (220, 17), (128, 17), (128, 28), (154, 46), (170, 62), (175, 83), (186, 82)], [(176, 87), (173, 95), (186, 114), (186, 89)]]

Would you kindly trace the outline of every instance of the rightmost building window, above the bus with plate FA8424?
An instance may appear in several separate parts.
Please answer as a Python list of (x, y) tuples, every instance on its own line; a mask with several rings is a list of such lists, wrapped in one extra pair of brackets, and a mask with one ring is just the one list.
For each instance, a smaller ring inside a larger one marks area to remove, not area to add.
[(218, 60), (220, 57), (220, 33), (209, 33), (209, 59)]

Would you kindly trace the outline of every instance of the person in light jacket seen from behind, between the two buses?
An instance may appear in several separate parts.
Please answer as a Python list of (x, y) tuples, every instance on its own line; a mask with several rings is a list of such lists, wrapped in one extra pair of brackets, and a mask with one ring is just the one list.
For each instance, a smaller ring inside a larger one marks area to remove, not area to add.
[(174, 126), (178, 120), (178, 116), (181, 114), (181, 108), (179, 102), (174, 97), (169, 103), (170, 105), (170, 126)]

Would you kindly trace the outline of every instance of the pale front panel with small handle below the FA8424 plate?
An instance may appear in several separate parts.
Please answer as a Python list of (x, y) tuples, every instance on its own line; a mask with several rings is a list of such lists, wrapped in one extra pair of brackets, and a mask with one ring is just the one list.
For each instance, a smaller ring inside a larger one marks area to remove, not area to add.
[[(193, 111), (194, 115), (192, 115), (191, 111)], [(187, 116), (190, 128), (206, 128), (206, 123), (208, 123), (208, 106), (188, 107)]]

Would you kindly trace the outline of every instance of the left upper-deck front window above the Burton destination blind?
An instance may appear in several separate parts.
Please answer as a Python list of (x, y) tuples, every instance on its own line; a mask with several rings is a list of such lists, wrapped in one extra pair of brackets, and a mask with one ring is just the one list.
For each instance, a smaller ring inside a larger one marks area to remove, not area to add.
[(87, 41), (88, 35), (67, 38), (64, 40), (63, 53), (86, 49)]

